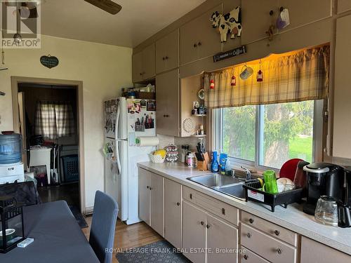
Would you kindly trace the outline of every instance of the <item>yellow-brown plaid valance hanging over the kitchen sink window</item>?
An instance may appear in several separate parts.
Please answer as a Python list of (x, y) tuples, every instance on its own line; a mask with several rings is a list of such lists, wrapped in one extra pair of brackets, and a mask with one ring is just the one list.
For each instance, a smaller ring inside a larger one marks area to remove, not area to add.
[[(247, 63), (247, 66), (253, 68), (253, 75), (246, 81), (239, 77), (243, 65), (204, 73), (208, 108), (319, 100), (328, 96), (329, 46), (275, 55), (261, 62)], [(259, 69), (263, 72), (262, 82), (256, 79)], [(236, 86), (230, 85), (232, 76), (235, 76)], [(210, 88), (212, 80), (214, 89)]]

